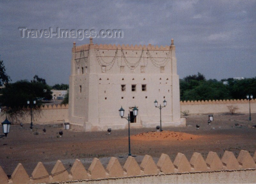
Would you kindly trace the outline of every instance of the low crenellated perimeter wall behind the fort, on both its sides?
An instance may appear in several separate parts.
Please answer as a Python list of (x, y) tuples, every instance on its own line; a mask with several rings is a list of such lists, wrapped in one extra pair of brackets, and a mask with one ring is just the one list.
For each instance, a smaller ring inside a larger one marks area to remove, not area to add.
[[(153, 105), (153, 102), (152, 102)], [(168, 105), (168, 104), (167, 104)], [(251, 113), (256, 113), (256, 99), (250, 101)], [(249, 113), (249, 100), (209, 100), (209, 101), (180, 101), (180, 111), (188, 111), (188, 114), (214, 114), (214, 113), (230, 113), (228, 106), (237, 107), (236, 113)], [(117, 112), (117, 110), (116, 110)], [(118, 113), (118, 112), (117, 112)], [(3, 122), (6, 117), (4, 112), (0, 113), (0, 121)], [(31, 111), (24, 108), (22, 113), (7, 119), (14, 123), (30, 123)], [(68, 104), (67, 105), (44, 105), (38, 109), (33, 109), (33, 123), (49, 124), (64, 123), (68, 121)]]

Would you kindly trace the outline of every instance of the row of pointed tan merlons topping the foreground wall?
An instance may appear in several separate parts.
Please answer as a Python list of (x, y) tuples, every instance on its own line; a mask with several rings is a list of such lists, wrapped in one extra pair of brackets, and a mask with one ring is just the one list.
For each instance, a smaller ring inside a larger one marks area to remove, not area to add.
[[(209, 152), (206, 160), (204, 160), (200, 153), (195, 152), (190, 161), (188, 161), (184, 154), (178, 153), (174, 162), (172, 162), (168, 155), (162, 154), (156, 164), (151, 156), (145, 155), (139, 165), (134, 157), (129, 156), (124, 167), (120, 165), (117, 158), (111, 157), (106, 169), (98, 158), (94, 158), (88, 171), (86, 171), (84, 165), (78, 159), (69, 168), (65, 168), (61, 161), (58, 160), (50, 174), (45, 169), (43, 163), (38, 162), (30, 177), (22, 164), (17, 165), (10, 179), (8, 179), (0, 166), (0, 182), (1, 184), (65, 183), (65, 181), (68, 183), (73, 183), (72, 181), (74, 181), (76, 183), (79, 180), (80, 182), (84, 181), (83, 183), (90, 183), (92, 181), (109, 180), (108, 183), (111, 183), (110, 180), (113, 179), (139, 179), (140, 177), (155, 176), (160, 177), (161, 180), (161, 177), (165, 175), (177, 174), (177, 176), (182, 176), (189, 173), (200, 173), (200, 177), (202, 175), (207, 177), (207, 175), (213, 172), (224, 173), (225, 171), (229, 172), (228, 175), (237, 171), (253, 171), (255, 173), (255, 157), (256, 151), (254, 156), (251, 157), (248, 151), (241, 150), (237, 158), (233, 152), (225, 151), (221, 159), (215, 152)], [(69, 169), (70, 173), (68, 172)], [(245, 176), (247, 176), (246, 173)], [(161, 183), (161, 181), (159, 182)], [(204, 183), (206, 181), (202, 180), (201, 182)], [(217, 183), (217, 180), (212, 180), (212, 182)]]

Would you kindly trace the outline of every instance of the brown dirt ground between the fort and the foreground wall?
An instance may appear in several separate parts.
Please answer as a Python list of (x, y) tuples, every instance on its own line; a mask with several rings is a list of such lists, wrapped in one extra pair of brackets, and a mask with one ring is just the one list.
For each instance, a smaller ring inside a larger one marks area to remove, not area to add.
[[(186, 119), (186, 127), (163, 127), (163, 132), (157, 132), (156, 128), (131, 129), (131, 153), (138, 164), (145, 154), (151, 155), (156, 163), (162, 153), (168, 154), (172, 162), (178, 152), (188, 160), (193, 152), (201, 153), (204, 159), (209, 151), (217, 152), (220, 158), (225, 150), (232, 151), (236, 157), (240, 150), (254, 155), (256, 128), (252, 125), (256, 125), (256, 113), (252, 114), (252, 121), (248, 121), (249, 114), (213, 114), (211, 125), (207, 122), (208, 115), (189, 115)], [(200, 125), (199, 130), (196, 125)], [(64, 130), (61, 124), (34, 125), (32, 131), (29, 126), (12, 125), (8, 136), (0, 139), (0, 165), (9, 177), (18, 163), (31, 175), (38, 162), (43, 162), (51, 173), (57, 160), (69, 168), (78, 158), (88, 170), (94, 157), (105, 168), (112, 156), (122, 166), (128, 157), (127, 129), (108, 134), (107, 131)]]

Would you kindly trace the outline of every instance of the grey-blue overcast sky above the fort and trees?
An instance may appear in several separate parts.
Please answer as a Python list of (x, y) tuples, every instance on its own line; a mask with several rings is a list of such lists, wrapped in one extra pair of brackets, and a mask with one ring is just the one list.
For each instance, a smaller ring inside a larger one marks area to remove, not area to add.
[[(12, 82), (34, 75), (68, 84), (73, 42), (88, 38), (22, 35), (26, 30), (118, 29), (100, 44), (170, 45), (180, 78), (256, 77), (256, 1), (0, 1), (0, 55)], [(19, 29), (20, 28), (20, 29)], [(43, 33), (43, 32), (41, 32)], [(23, 37), (22, 37), (23, 36)], [(34, 38), (32, 38), (34, 36)]]

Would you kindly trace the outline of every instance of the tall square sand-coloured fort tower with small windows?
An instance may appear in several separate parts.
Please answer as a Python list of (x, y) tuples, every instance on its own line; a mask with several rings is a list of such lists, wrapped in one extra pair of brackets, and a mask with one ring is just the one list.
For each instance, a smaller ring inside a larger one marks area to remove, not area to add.
[[(69, 78), (69, 122), (84, 131), (123, 129), (131, 115), (131, 127), (156, 127), (162, 109), (162, 127), (185, 126), (180, 118), (179, 76), (173, 40), (170, 46), (98, 45), (72, 48)], [(139, 109), (138, 116), (132, 108)]]

